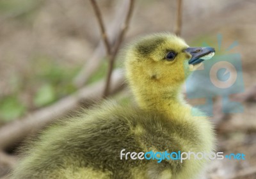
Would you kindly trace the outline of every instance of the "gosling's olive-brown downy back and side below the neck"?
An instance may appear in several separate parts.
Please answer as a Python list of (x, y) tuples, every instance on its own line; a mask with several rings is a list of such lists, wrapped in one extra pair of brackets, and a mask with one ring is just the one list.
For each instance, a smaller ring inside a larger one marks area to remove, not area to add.
[(12, 178), (179, 178), (192, 160), (121, 160), (120, 151), (200, 151), (200, 134), (189, 120), (105, 102), (42, 132), (23, 149)]

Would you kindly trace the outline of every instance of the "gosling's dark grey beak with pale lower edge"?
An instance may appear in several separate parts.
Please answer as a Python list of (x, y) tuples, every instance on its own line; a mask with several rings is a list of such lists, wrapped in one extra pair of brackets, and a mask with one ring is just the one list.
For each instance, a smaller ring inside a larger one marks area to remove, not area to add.
[(185, 50), (185, 52), (188, 52), (192, 56), (192, 58), (188, 61), (189, 65), (196, 65), (204, 61), (204, 59), (201, 58), (207, 56), (208, 54), (214, 53), (215, 50), (212, 47), (189, 47)]

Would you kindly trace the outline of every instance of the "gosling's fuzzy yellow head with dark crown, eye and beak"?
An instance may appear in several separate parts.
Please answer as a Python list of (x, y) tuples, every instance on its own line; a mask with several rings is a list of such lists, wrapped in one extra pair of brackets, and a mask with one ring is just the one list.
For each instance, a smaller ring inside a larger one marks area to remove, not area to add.
[(127, 48), (127, 79), (132, 88), (141, 90), (175, 89), (190, 74), (189, 65), (200, 64), (211, 53), (214, 53), (211, 47), (191, 48), (182, 38), (170, 33), (148, 35)]

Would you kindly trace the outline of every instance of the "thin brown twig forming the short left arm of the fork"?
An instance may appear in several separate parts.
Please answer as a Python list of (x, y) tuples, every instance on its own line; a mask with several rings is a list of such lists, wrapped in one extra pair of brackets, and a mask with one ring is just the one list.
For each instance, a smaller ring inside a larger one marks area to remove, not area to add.
[(98, 6), (98, 4), (96, 3), (95, 0), (90, 0), (90, 1), (92, 3), (93, 10), (94, 10), (95, 15), (97, 17), (97, 21), (99, 22), (100, 31), (101, 31), (101, 35), (102, 35), (102, 38), (103, 38), (104, 45), (106, 47), (107, 54), (108, 54), (108, 56), (110, 56), (111, 55), (111, 47), (110, 47), (110, 44), (109, 44), (106, 29), (104, 27), (104, 23), (103, 23), (103, 20), (102, 20), (102, 15), (100, 13), (99, 6)]

